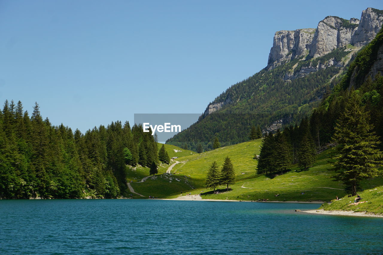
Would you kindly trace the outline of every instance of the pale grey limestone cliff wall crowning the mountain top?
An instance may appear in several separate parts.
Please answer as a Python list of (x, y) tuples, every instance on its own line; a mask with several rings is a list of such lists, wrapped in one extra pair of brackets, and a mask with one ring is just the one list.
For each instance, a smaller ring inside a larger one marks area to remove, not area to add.
[(368, 44), (383, 25), (383, 12), (367, 8), (361, 19), (345, 20), (327, 16), (316, 29), (306, 28), (275, 33), (266, 69), (308, 55), (316, 58), (348, 44), (361, 47)]

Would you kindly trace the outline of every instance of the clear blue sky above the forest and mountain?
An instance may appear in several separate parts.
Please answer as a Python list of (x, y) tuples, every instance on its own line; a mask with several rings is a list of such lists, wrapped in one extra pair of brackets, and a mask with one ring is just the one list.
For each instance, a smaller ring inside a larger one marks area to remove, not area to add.
[(0, 0), (0, 101), (85, 132), (134, 113), (202, 113), (267, 64), (275, 31), (381, 1)]

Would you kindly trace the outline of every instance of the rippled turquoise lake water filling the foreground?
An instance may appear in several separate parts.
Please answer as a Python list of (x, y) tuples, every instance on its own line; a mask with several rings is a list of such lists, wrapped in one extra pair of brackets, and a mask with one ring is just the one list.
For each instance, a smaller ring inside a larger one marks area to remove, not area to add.
[(0, 254), (382, 254), (383, 218), (319, 204), (1, 200)]

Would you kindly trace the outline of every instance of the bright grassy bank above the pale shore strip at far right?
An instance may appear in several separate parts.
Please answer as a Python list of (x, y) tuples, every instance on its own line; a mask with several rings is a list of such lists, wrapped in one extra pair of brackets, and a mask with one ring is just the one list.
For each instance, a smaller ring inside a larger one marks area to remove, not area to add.
[(324, 210), (344, 210), (355, 212), (372, 212), (375, 214), (383, 214), (383, 186), (378, 186), (370, 190), (359, 192), (360, 201), (367, 201), (357, 205), (350, 205), (354, 203), (355, 196), (344, 196), (340, 200), (335, 200), (331, 204), (322, 204), (320, 209)]

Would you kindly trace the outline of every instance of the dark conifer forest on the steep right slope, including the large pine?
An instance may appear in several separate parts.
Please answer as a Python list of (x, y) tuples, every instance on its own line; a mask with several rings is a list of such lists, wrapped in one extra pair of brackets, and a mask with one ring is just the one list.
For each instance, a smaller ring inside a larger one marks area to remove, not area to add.
[(353, 195), (365, 178), (383, 174), (383, 77), (371, 78), (381, 58), (383, 29), (364, 47), (333, 92), (300, 125), (269, 133), (262, 141), (258, 173), (279, 174), (293, 163), (307, 170), (316, 152), (334, 147), (333, 168)]

